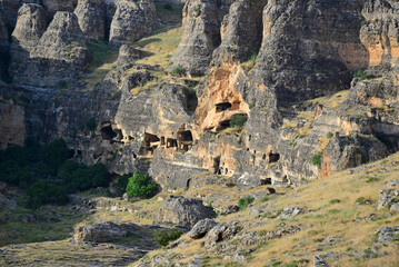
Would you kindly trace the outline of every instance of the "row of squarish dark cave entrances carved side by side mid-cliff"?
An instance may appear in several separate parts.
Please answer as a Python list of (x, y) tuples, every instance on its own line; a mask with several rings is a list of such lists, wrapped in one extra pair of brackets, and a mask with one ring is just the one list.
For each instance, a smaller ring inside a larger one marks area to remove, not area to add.
[(153, 151), (158, 147), (176, 148), (176, 150), (188, 151), (191, 149), (192, 144), (193, 138), (191, 131), (186, 129), (186, 125), (182, 125), (179, 128), (176, 137), (158, 137), (156, 135), (146, 132), (143, 154), (147, 156), (152, 156)]

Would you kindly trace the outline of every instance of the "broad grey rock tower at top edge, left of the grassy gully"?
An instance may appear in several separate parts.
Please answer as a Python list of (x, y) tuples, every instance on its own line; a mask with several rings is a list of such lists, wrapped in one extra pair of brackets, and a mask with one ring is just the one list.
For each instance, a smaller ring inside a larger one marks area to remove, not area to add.
[(159, 26), (153, 0), (126, 0), (117, 2), (109, 41), (112, 44), (133, 42)]

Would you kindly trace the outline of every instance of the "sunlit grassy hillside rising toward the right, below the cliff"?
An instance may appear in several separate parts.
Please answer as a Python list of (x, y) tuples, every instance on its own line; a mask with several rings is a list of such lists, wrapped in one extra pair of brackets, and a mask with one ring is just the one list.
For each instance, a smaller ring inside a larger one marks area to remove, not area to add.
[[(281, 188), (277, 195), (260, 198), (243, 211), (218, 217), (218, 222), (239, 221), (243, 227), (232, 240), (207, 249), (205, 239), (192, 240), (183, 236), (181, 239), (186, 243), (182, 247), (151, 251), (149, 258), (161, 255), (163, 261), (169, 259), (182, 264), (200, 258), (201, 266), (293, 267), (312, 266), (316, 255), (327, 255), (329, 266), (399, 266), (399, 236), (387, 246), (375, 243), (376, 229), (399, 225), (398, 214), (389, 214), (388, 208), (377, 209), (380, 189), (398, 178), (399, 154), (396, 154), (358, 168), (351, 175), (347, 170), (295, 189)], [(266, 187), (250, 191), (262, 192)], [(248, 191), (239, 194), (237, 189), (215, 185), (186, 192), (202, 196), (205, 202), (212, 199), (217, 209), (237, 202)], [(279, 214), (287, 207), (298, 207), (301, 212), (280, 218)], [(259, 212), (259, 208), (263, 212)], [(289, 226), (300, 230), (281, 238), (256, 241), (251, 246), (241, 241), (247, 235), (262, 239), (268, 233)], [(227, 259), (231, 254), (229, 247), (236, 248), (233, 251), (240, 250), (246, 260)]]

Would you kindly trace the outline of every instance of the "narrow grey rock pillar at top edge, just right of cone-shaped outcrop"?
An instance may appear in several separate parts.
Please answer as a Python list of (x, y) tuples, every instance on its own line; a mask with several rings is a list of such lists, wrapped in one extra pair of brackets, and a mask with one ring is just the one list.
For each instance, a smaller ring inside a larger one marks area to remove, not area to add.
[(104, 1), (82, 0), (73, 11), (79, 21), (80, 29), (88, 40), (102, 40), (106, 33)]

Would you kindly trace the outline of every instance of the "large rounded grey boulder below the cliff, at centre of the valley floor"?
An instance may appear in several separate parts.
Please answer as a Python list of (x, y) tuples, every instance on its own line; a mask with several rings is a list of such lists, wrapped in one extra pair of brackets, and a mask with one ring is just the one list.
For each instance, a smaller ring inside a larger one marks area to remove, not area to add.
[(156, 221), (191, 228), (202, 219), (215, 217), (213, 208), (203, 206), (199, 199), (173, 197), (162, 204)]

